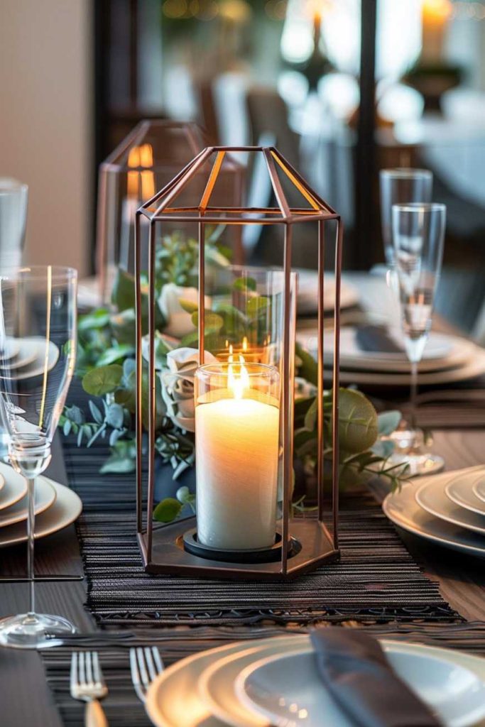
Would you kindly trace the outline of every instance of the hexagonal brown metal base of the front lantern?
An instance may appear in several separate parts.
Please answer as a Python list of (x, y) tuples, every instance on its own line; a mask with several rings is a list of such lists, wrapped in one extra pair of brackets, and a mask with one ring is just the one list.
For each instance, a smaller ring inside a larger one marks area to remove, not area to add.
[[(332, 537), (323, 523), (316, 519), (294, 518), (289, 521), (292, 550), (288, 553), (286, 569), (281, 565), (281, 541), (276, 544), (278, 554), (275, 560), (249, 562), (244, 551), (244, 561), (220, 560), (215, 553), (204, 554), (189, 552), (186, 543), (192, 542), (196, 532), (196, 518), (185, 518), (169, 525), (155, 526), (152, 532), (151, 552), (148, 550), (148, 537), (145, 531), (138, 533), (138, 545), (147, 573), (169, 574), (172, 576), (231, 579), (236, 581), (281, 581), (296, 578), (326, 563), (340, 560), (340, 551), (335, 547)], [(199, 544), (200, 545), (200, 544)], [(272, 550), (272, 549), (271, 549)], [(241, 552), (240, 552), (241, 553)], [(261, 553), (261, 551), (259, 551)], [(217, 555), (222, 553), (217, 551)]]

